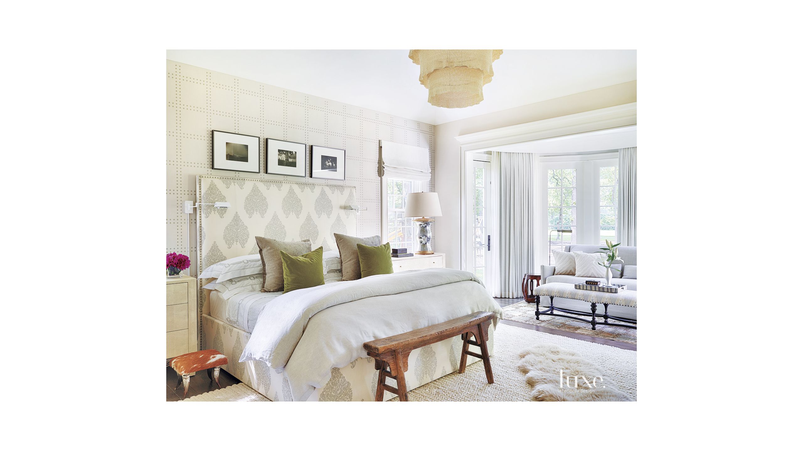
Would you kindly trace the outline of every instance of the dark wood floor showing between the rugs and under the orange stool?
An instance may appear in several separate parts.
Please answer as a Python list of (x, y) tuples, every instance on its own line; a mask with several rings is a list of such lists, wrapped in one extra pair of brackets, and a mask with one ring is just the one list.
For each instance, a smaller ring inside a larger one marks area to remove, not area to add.
[[(509, 305), (520, 303), (524, 300), (524, 298), (516, 298), (516, 299), (502, 299), (502, 298), (494, 298), (496, 302), (499, 303), (501, 307), (507, 307)], [(526, 323), (517, 323), (516, 321), (508, 321), (507, 319), (503, 319), (502, 323), (509, 324), (515, 327), (522, 327), (524, 329), (530, 329), (531, 331), (539, 331), (544, 332), (547, 334), (552, 335), (561, 335), (573, 339), (581, 339), (583, 341), (589, 341), (592, 343), (601, 343), (607, 344), (613, 347), (621, 347), (622, 349), (629, 349), (631, 351), (636, 350), (636, 345), (630, 343), (622, 343), (621, 341), (616, 341), (613, 339), (602, 339), (598, 337), (593, 337), (590, 335), (582, 335), (577, 334), (575, 332), (568, 332), (568, 331), (560, 331), (558, 329), (552, 329), (550, 327), (543, 327), (543, 326), (535, 326), (532, 324)], [(184, 386), (179, 385), (176, 388), (176, 382), (178, 380), (178, 376), (173, 368), (167, 368), (167, 400), (169, 401), (177, 401), (181, 400), (184, 396)], [(231, 376), (226, 370), (220, 370), (220, 386), (222, 388), (226, 388), (230, 385), (238, 384), (239, 380)], [(214, 383), (214, 380), (210, 380), (209, 377), (206, 376), (206, 372), (198, 372), (195, 376), (190, 377), (190, 390), (187, 391), (187, 397), (200, 395), (201, 393), (211, 392), (213, 390), (217, 390), (218, 385)]]

